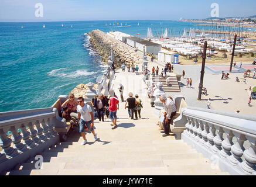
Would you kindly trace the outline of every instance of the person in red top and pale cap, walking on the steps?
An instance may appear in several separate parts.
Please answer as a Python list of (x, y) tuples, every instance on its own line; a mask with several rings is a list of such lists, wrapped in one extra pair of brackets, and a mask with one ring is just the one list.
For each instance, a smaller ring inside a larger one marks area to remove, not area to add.
[(119, 100), (117, 96), (115, 95), (115, 92), (113, 89), (110, 89), (109, 91), (110, 95), (110, 106), (108, 107), (108, 110), (110, 111), (110, 119), (112, 121), (112, 129), (117, 128), (117, 110), (119, 110)]

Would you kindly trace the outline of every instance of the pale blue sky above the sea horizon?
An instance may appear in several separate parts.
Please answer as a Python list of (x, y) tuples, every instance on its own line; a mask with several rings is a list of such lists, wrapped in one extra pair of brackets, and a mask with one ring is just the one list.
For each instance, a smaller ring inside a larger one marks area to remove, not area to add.
[[(37, 3), (43, 17), (35, 16)], [(0, 22), (203, 19), (213, 3), (220, 18), (256, 15), (255, 0), (0, 0)]]

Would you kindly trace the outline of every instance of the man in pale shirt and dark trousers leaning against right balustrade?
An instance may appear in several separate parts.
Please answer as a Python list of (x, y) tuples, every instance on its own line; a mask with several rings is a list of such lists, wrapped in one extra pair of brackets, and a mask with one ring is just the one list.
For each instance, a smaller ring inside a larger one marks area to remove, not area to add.
[(172, 121), (173, 117), (176, 115), (177, 109), (170, 98), (166, 98), (165, 95), (160, 96), (160, 101), (163, 103), (164, 106), (164, 117), (165, 117), (165, 122), (163, 124), (164, 130), (161, 131), (163, 134), (163, 137), (170, 136), (170, 122)]

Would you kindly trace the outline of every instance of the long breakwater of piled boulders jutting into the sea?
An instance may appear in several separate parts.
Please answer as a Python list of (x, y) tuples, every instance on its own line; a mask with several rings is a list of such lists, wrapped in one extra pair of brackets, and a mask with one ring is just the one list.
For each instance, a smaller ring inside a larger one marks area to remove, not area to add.
[(122, 63), (141, 64), (143, 62), (142, 54), (137, 54), (126, 44), (111, 38), (101, 30), (92, 30), (88, 35), (91, 37), (91, 44), (100, 54), (101, 61), (104, 63), (107, 63), (108, 57), (111, 56), (111, 46), (114, 51), (115, 67), (120, 68)]

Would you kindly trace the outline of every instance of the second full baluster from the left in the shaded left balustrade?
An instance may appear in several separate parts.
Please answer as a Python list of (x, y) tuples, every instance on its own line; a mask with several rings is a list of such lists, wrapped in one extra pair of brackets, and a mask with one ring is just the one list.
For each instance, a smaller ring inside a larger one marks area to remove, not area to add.
[(12, 126), (11, 132), (12, 132), (12, 143), (14, 144), (13, 148), (16, 148), (18, 150), (18, 153), (22, 153), (25, 151), (28, 151), (28, 148), (25, 144), (21, 143), (22, 136), (18, 133), (19, 126)]

